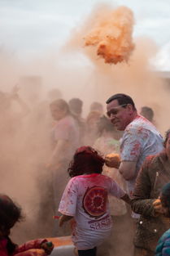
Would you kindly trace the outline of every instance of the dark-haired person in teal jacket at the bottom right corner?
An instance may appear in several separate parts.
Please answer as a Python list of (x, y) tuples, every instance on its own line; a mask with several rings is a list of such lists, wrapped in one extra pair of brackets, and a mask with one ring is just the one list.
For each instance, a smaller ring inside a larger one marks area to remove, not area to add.
[[(170, 183), (163, 186), (160, 201), (163, 215), (170, 218)], [(170, 229), (163, 233), (160, 237), (156, 247), (155, 256), (169, 256), (170, 255)]]

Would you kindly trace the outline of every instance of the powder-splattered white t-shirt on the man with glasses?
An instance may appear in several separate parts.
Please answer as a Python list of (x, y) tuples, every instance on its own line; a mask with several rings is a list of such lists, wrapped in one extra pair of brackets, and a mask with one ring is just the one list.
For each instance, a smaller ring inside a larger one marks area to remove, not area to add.
[[(163, 150), (163, 138), (155, 126), (142, 115), (137, 115), (124, 130), (120, 145), (121, 161), (137, 162), (136, 177), (148, 155), (156, 155)], [(129, 195), (133, 193), (136, 180), (128, 182)]]

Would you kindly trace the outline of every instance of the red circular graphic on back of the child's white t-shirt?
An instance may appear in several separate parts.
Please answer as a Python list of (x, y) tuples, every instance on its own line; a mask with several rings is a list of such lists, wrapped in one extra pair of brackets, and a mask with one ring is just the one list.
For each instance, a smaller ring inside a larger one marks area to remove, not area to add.
[(102, 216), (107, 209), (107, 190), (102, 186), (88, 188), (83, 198), (83, 208), (92, 217)]

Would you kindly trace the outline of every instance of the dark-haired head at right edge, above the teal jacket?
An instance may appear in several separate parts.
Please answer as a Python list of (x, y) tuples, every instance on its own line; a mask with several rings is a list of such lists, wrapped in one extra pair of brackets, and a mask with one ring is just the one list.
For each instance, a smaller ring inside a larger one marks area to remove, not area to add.
[(160, 200), (163, 207), (163, 215), (170, 218), (170, 182), (163, 186)]

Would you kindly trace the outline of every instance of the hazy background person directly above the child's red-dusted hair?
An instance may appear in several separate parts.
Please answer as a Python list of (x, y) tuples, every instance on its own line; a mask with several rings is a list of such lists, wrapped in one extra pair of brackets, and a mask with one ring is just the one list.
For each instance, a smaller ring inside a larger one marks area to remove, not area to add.
[(77, 124), (80, 128), (80, 146), (85, 142), (85, 119), (82, 118), (83, 101), (79, 98), (72, 98), (68, 101), (68, 105), (72, 115), (75, 117)]

